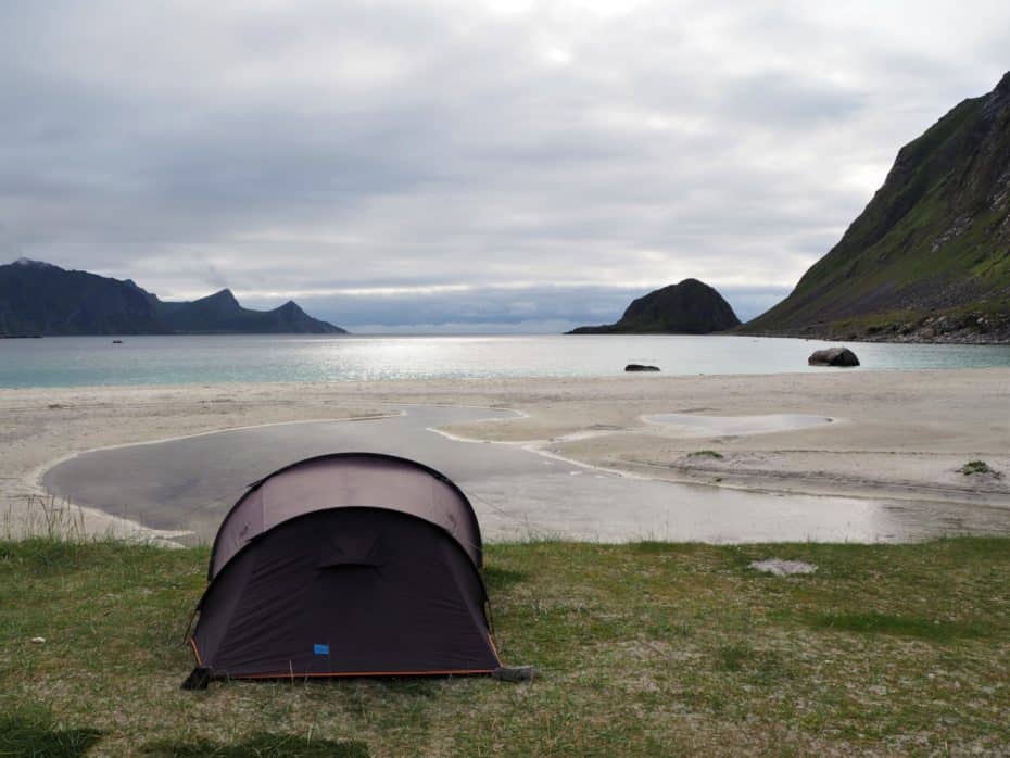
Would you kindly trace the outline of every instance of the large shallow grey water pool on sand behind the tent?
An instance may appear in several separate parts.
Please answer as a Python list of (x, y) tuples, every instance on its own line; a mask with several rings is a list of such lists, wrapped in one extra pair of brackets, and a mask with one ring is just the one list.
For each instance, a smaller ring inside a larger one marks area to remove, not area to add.
[(307, 456), (349, 451), (401, 455), (442, 471), (470, 498), (490, 540), (894, 542), (1010, 533), (1008, 509), (674, 484), (431, 431), (510, 416), (407, 406), (391, 418), (237, 429), (83, 453), (50, 469), (43, 482), (77, 505), (155, 529), (191, 530), (191, 542), (213, 540), (250, 482)]

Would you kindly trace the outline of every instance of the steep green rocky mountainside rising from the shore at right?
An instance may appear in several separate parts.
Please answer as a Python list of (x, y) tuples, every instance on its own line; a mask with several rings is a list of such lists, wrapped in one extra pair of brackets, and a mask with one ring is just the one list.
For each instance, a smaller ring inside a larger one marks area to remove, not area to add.
[(741, 331), (1010, 340), (1010, 72), (901, 148), (842, 240)]

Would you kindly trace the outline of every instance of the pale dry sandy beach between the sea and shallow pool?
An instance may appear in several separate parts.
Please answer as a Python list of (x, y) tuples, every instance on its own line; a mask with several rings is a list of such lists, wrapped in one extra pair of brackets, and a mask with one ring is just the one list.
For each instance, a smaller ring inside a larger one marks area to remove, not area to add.
[[(2, 528), (12, 535), (38, 530), (42, 475), (80, 452), (258, 425), (367, 418), (396, 413), (399, 404), (518, 410), (516, 418), (441, 431), (526, 443), (648, 478), (1010, 508), (1010, 476), (959, 471), (983, 459), (1010, 475), (1010, 369), (825, 370), (0, 390)], [(648, 418), (662, 414), (678, 418)], [(823, 422), (797, 425), (801, 416)], [(100, 511), (75, 510), (75, 519), (86, 533), (157, 536)]]

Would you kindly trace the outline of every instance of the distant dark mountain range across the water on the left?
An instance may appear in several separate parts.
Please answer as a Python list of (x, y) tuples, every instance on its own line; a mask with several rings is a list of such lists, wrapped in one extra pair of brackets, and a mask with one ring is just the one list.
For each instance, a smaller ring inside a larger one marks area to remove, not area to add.
[(0, 266), (0, 336), (21, 334), (343, 334), (289, 301), (243, 308), (230, 290), (164, 302), (127, 279), (21, 258)]

